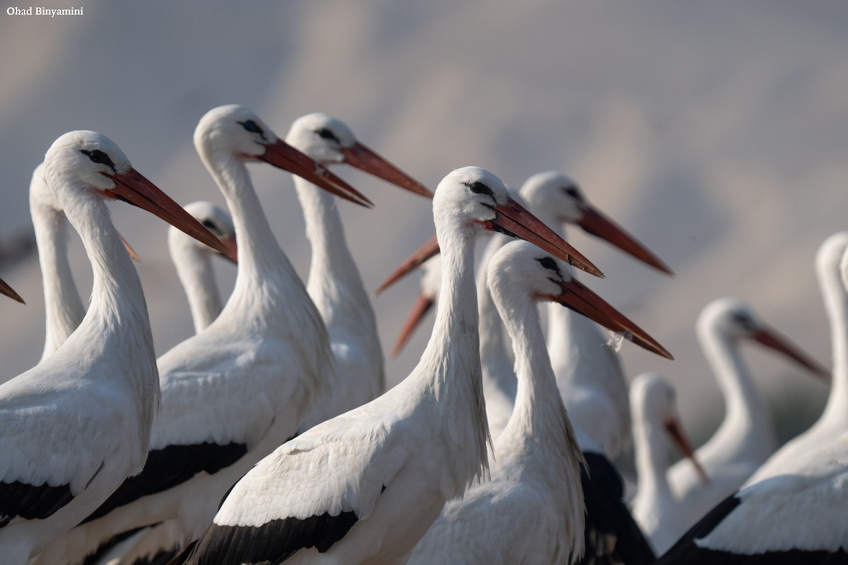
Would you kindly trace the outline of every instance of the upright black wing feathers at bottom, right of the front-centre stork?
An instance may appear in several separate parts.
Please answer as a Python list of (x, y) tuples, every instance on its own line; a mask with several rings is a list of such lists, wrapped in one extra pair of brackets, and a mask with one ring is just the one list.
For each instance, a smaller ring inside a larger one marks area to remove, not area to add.
[(656, 560), (624, 503), (621, 475), (604, 455), (583, 451), (588, 469), (580, 468), (586, 501), (586, 530), (581, 565), (641, 565)]

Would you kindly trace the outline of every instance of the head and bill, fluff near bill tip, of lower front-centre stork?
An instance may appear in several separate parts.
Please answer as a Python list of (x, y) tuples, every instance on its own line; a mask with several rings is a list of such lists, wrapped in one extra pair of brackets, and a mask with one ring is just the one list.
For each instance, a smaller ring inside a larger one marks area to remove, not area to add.
[(516, 296), (559, 302), (650, 352), (673, 358), (647, 332), (572, 277), (550, 253), (526, 241), (510, 241), (494, 254), (488, 266), (488, 286), (499, 309), (509, 310)]

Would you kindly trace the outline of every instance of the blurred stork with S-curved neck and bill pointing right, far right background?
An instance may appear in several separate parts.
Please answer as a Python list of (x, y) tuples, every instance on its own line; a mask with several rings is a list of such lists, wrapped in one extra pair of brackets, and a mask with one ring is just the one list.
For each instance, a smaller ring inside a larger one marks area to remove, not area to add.
[[(703, 485), (695, 468), (686, 461), (672, 465), (668, 482), (685, 518), (669, 520), (663, 535), (676, 540), (706, 512), (745, 483), (777, 447), (766, 399), (756, 387), (739, 352), (741, 341), (756, 341), (783, 353), (817, 374), (828, 374), (784, 336), (765, 324), (754, 310), (736, 298), (719, 298), (704, 307), (698, 317), (698, 337), (705, 357), (722, 390), (726, 413), (709, 440), (695, 451), (710, 477)], [(653, 532), (649, 535), (653, 539)], [(668, 546), (656, 543), (656, 550)]]

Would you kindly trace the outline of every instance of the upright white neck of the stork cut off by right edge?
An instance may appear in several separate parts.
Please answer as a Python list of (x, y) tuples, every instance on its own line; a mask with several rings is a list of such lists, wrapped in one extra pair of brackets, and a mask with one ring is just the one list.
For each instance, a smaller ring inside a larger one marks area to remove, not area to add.
[(839, 269), (819, 274), (819, 285), (830, 324), (833, 374), (828, 403), (819, 422), (845, 421), (848, 418), (848, 292)]

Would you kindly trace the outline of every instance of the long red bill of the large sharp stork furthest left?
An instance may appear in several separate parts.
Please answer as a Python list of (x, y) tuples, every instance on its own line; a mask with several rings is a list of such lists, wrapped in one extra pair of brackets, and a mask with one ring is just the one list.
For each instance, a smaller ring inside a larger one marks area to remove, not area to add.
[(171, 200), (165, 192), (159, 190), (152, 182), (145, 179), (136, 169), (130, 169), (123, 174), (108, 176), (114, 180), (115, 186), (111, 191), (101, 191), (104, 196), (118, 198), (133, 206), (147, 210), (149, 213), (164, 219), (177, 230), (181, 230), (201, 243), (212, 247), (221, 255), (230, 256), (229, 250), (215, 235), (212, 235), (192, 214), (187, 213), (184, 208)]

